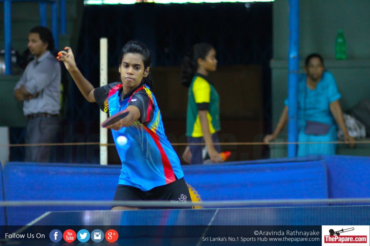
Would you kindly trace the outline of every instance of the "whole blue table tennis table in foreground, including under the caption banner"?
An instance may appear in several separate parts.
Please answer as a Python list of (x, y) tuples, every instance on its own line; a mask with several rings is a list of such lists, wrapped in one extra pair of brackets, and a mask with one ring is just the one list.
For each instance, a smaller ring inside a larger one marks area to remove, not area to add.
[[(71, 211), (47, 212), (19, 232), (45, 230), (47, 237), (40, 245), (321, 245), (316, 242), (214, 242), (206, 238), (256, 238), (256, 230), (316, 230), (322, 225), (370, 225), (370, 206), (291, 206), (259, 208), (203, 208), (203, 209), (142, 209), (130, 211)], [(35, 229), (36, 228), (36, 229)], [(61, 240), (50, 243), (48, 233), (80, 229), (91, 232), (115, 229), (119, 238), (115, 243), (106, 240), (68, 244)], [(318, 238), (321, 240), (321, 234)], [(21, 245), (35, 245), (20, 242)], [(7, 244), (4, 244), (7, 245)]]

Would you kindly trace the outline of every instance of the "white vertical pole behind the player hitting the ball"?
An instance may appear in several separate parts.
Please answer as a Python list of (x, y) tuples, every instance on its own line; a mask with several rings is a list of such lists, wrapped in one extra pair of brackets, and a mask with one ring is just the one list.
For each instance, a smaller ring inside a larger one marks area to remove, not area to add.
[[(100, 86), (108, 82), (108, 39), (100, 38)], [(100, 124), (107, 119), (107, 113), (100, 110)], [(108, 129), (100, 127), (100, 143), (108, 143)], [(108, 146), (100, 146), (100, 165), (108, 164)]]

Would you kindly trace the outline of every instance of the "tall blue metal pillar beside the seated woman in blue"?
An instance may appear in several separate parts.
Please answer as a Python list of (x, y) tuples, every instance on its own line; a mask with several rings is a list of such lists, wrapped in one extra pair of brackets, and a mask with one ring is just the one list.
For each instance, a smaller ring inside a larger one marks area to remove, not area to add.
[[(289, 0), (288, 142), (298, 141), (299, 0)], [(288, 144), (288, 157), (295, 157), (297, 145)]]

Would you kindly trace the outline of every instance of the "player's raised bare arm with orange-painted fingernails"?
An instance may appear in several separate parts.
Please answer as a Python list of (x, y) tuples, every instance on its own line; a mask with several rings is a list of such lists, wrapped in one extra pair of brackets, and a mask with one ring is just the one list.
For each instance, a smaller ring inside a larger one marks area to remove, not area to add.
[(60, 51), (58, 53), (57, 59), (58, 61), (64, 62), (65, 68), (67, 68), (68, 72), (71, 74), (78, 89), (80, 89), (86, 100), (89, 102), (96, 102), (94, 97), (94, 86), (92, 86), (91, 83), (81, 74), (80, 70), (78, 70), (72, 49), (70, 47), (65, 47), (64, 51)]

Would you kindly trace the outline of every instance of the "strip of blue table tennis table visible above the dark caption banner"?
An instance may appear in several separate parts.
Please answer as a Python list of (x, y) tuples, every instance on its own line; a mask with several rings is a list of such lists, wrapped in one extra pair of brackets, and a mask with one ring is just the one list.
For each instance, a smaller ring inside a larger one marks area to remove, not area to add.
[(370, 225), (370, 205), (47, 212), (28, 225)]

